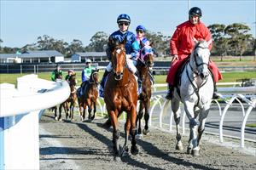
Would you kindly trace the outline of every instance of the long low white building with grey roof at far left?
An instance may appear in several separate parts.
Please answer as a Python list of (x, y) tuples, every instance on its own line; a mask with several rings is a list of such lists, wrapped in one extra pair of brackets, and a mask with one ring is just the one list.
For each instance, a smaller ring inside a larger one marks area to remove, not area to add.
[(0, 63), (58, 63), (64, 55), (56, 50), (26, 51), (22, 54), (0, 54)]

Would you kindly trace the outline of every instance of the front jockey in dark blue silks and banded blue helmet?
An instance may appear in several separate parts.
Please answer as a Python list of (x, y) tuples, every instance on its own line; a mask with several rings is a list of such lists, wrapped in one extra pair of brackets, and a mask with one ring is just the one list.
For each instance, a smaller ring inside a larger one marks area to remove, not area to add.
[[(126, 50), (126, 63), (128, 66), (128, 69), (137, 76), (137, 68), (133, 64), (132, 59), (137, 58), (137, 54), (139, 51), (139, 48), (137, 46), (132, 46), (132, 44), (136, 41), (136, 36), (134, 33), (131, 31), (128, 31), (128, 28), (131, 23), (130, 16), (128, 14), (120, 14), (119, 17), (117, 18), (117, 23), (119, 26), (118, 31), (114, 31), (110, 37), (119, 40), (119, 42), (123, 42), (126, 38), (126, 43), (125, 43), (125, 50)], [(107, 48), (106, 50), (108, 59), (111, 60), (111, 52), (110, 49)], [(104, 94), (104, 84), (106, 81), (106, 78), (108, 77), (108, 74), (112, 71), (112, 63), (109, 62), (106, 71), (104, 72), (104, 75), (102, 77), (102, 82), (101, 82), (101, 88), (100, 88), (100, 96), (103, 97)]]

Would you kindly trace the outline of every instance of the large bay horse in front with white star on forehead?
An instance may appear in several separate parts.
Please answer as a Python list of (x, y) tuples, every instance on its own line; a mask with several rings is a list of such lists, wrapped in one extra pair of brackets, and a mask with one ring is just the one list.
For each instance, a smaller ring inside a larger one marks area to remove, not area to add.
[[(137, 119), (137, 81), (126, 66), (125, 42), (109, 37), (108, 47), (111, 51), (113, 70), (109, 73), (104, 89), (104, 101), (113, 126), (113, 151), (115, 156), (128, 154), (127, 141), (131, 133), (131, 154), (137, 155), (136, 119)], [(125, 111), (125, 144), (119, 152), (119, 125), (118, 117)], [(107, 122), (109, 122), (109, 119)]]

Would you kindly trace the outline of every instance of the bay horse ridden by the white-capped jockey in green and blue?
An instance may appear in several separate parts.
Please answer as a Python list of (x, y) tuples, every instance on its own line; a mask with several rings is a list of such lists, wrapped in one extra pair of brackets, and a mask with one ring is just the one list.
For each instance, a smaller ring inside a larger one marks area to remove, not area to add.
[[(84, 82), (83, 82), (84, 83)], [(88, 106), (88, 119), (92, 121), (96, 114), (96, 100), (98, 98), (98, 84), (99, 81), (99, 69), (92, 70), (90, 79), (85, 85), (83, 95), (78, 98), (79, 100), (79, 115), (81, 121), (85, 119), (85, 111)], [(83, 84), (82, 84), (83, 85)], [(82, 87), (81, 85), (81, 87)], [(79, 92), (79, 91), (78, 91)], [(79, 95), (78, 95), (79, 96)], [(91, 111), (93, 115), (91, 116)]]

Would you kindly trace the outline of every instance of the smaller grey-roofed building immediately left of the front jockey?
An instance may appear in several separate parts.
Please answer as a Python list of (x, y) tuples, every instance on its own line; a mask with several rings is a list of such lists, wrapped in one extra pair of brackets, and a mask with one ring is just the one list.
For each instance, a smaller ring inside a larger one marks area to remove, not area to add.
[(71, 56), (72, 62), (85, 62), (85, 59), (91, 59), (95, 61), (108, 60), (106, 52), (85, 52), (85, 53), (75, 53)]

